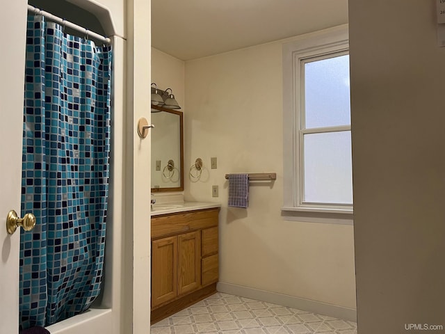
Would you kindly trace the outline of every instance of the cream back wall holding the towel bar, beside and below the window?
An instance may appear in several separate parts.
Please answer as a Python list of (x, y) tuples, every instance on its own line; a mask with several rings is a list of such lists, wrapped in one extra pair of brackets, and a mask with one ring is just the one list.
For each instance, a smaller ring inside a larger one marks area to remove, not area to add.
[[(184, 168), (204, 161), (200, 181), (186, 176), (185, 197), (223, 205), (220, 281), (355, 308), (353, 226), (281, 216), (282, 42), (188, 61), (185, 82)], [(225, 173), (246, 172), (277, 180), (252, 184), (248, 209), (228, 208)]]

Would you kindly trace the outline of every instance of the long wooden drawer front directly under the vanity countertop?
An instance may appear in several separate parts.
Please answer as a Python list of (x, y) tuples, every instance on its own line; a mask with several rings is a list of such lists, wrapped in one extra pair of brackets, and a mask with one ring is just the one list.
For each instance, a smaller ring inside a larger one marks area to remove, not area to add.
[(152, 239), (218, 225), (218, 209), (153, 216)]

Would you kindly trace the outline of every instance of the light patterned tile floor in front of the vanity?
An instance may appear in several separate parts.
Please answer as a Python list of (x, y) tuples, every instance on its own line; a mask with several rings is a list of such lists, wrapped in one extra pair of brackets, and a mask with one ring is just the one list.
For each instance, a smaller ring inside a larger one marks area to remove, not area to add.
[(218, 292), (152, 325), (152, 334), (357, 334), (357, 324)]

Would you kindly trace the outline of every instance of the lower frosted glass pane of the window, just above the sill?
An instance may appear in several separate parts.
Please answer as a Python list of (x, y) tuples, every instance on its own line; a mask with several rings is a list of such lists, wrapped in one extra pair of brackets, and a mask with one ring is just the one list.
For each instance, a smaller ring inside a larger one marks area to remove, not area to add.
[(353, 203), (350, 131), (305, 134), (304, 202)]

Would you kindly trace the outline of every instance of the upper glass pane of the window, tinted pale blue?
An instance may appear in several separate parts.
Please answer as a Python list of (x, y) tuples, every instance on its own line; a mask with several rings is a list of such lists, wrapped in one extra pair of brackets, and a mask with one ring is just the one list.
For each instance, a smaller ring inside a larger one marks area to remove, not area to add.
[(349, 56), (305, 63), (305, 127), (350, 125)]

